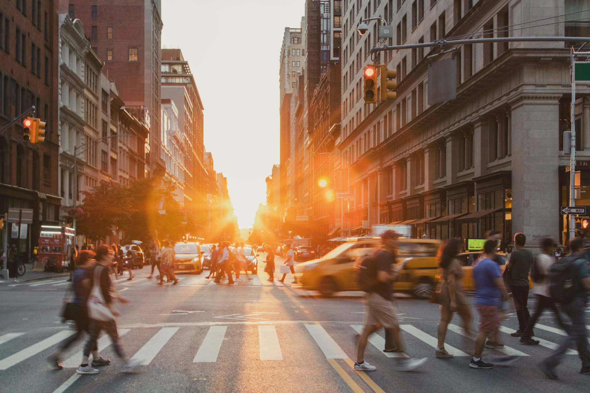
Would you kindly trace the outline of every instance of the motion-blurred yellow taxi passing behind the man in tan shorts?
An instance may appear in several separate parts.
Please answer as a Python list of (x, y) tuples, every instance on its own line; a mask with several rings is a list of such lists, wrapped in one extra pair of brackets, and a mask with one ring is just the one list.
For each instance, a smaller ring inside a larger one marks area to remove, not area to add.
[[(420, 299), (430, 298), (438, 270), (437, 251), (440, 240), (398, 239), (398, 263), (406, 262), (397, 282), (396, 292), (409, 292)], [(323, 257), (295, 265), (299, 285), (294, 288), (318, 290), (324, 296), (343, 290), (360, 290), (355, 262), (371, 255), (379, 247), (379, 238), (351, 238)]]

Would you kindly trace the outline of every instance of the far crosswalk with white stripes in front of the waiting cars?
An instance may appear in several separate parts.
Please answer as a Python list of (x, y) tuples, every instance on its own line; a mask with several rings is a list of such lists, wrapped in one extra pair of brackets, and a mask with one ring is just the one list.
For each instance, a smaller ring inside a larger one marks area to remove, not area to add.
[[(221, 280), (221, 282), (215, 283), (214, 279), (207, 279), (206, 276), (208, 275), (209, 271), (205, 270), (205, 272), (201, 273), (201, 275), (195, 274), (176, 274), (176, 278), (178, 279), (179, 283), (177, 286), (228, 286), (227, 280)], [(155, 275), (156, 276), (156, 275)], [(149, 272), (135, 272), (133, 274), (132, 280), (127, 280), (129, 276), (127, 273), (124, 273), (123, 276), (119, 276), (119, 279), (114, 279), (114, 285), (117, 288), (132, 288), (132, 287), (145, 287), (149, 285), (156, 285), (157, 280), (155, 277), (149, 279)], [(235, 277), (235, 276), (234, 276)], [(285, 279), (285, 283), (281, 283), (278, 281), (277, 278), (274, 281), (268, 281), (266, 279), (266, 275), (264, 277), (260, 277), (258, 275), (250, 275), (251, 280), (248, 280), (247, 276), (242, 273), (240, 275), (241, 281), (236, 281), (234, 286), (278, 286), (278, 287), (289, 287), (291, 286), (291, 281), (293, 280), (291, 275), (287, 275)], [(6, 288), (34, 288), (34, 289), (58, 289), (58, 288), (65, 288), (70, 282), (67, 281), (67, 276), (64, 278), (54, 278), (54, 279), (46, 279), (46, 280), (39, 280), (39, 281), (32, 281), (32, 282), (6, 282), (4, 286)], [(172, 283), (168, 283), (165, 285), (172, 285)]]

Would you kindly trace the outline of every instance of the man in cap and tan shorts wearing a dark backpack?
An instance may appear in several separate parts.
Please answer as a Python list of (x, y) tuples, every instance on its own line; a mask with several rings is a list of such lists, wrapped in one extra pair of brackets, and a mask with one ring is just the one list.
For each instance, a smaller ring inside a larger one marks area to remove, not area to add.
[[(365, 328), (360, 333), (358, 352), (356, 355), (355, 370), (373, 371), (376, 369), (365, 362), (365, 348), (368, 338), (381, 326), (391, 329), (396, 352), (404, 352), (404, 346), (399, 334), (398, 316), (394, 305), (394, 293), (392, 283), (398, 278), (399, 272), (404, 269), (405, 263), (398, 266), (395, 260), (397, 238), (400, 235), (392, 230), (387, 230), (381, 235), (382, 247), (371, 256), (362, 260), (359, 266), (360, 289), (365, 295)], [(424, 364), (424, 359), (400, 359), (398, 369), (409, 371)]]

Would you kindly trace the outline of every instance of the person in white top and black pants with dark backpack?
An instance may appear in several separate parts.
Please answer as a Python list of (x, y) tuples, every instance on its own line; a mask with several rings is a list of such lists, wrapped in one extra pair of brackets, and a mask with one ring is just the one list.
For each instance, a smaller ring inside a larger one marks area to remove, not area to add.
[(553, 256), (556, 249), (555, 242), (553, 239), (546, 238), (542, 240), (541, 246), (543, 247), (543, 252), (539, 253), (533, 259), (533, 264), (530, 265), (530, 278), (535, 283), (532, 290), (537, 295), (537, 307), (526, 325), (525, 334), (519, 340), (519, 343), (524, 345), (539, 344), (539, 341), (532, 339), (529, 334), (533, 331), (537, 319), (539, 319), (539, 316), (545, 309), (551, 309), (555, 312), (559, 325), (566, 329), (561, 321), (555, 302), (553, 302), (549, 294), (549, 270), (551, 269), (551, 265), (555, 263), (555, 257)]

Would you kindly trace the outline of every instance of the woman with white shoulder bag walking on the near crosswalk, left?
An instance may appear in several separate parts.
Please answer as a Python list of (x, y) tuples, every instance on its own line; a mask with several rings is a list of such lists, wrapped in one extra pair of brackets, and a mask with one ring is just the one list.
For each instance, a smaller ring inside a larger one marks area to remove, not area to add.
[[(125, 304), (129, 301), (119, 296), (116, 292), (111, 292), (112, 282), (109, 277), (108, 267), (113, 262), (114, 252), (107, 245), (99, 246), (96, 250), (96, 261), (89, 269), (88, 280), (90, 280), (90, 295), (88, 298), (88, 312), (90, 317), (90, 338), (84, 345), (82, 363), (76, 370), (78, 374), (98, 374), (99, 370), (88, 364), (88, 358), (93, 343), (99, 338), (100, 331), (105, 331), (113, 342), (113, 348), (117, 356), (124, 361), (121, 369), (122, 372), (131, 372), (140, 364), (139, 360), (128, 360), (123, 354), (123, 348), (119, 343), (119, 333), (117, 332), (117, 322), (114, 317), (119, 315), (119, 311), (113, 307), (113, 299), (119, 299), (119, 302)], [(94, 361), (93, 361), (94, 363)], [(107, 364), (109, 364), (107, 362)]]

